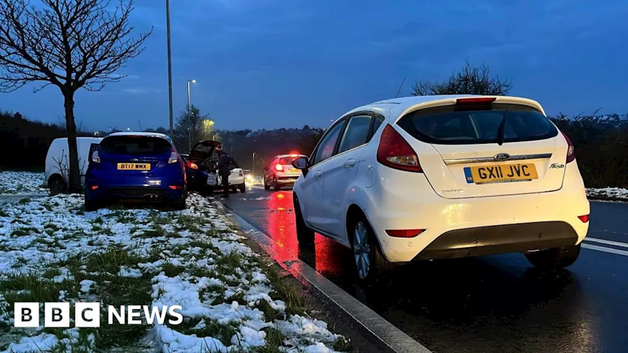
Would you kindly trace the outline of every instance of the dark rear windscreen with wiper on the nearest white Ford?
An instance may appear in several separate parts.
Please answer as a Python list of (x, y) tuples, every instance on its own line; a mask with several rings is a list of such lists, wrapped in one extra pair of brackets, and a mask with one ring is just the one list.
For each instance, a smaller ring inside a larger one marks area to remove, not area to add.
[(553, 138), (556, 127), (541, 112), (519, 104), (491, 104), (468, 110), (456, 106), (421, 109), (397, 123), (414, 138), (433, 144), (484, 144)]

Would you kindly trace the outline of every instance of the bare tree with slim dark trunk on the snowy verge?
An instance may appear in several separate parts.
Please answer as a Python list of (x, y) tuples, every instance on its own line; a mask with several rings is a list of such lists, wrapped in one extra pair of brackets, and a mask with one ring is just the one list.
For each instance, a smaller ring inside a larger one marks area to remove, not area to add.
[(131, 36), (133, 0), (0, 0), (0, 91), (41, 82), (33, 92), (55, 85), (63, 94), (70, 164), (69, 192), (80, 192), (74, 94), (97, 91), (130, 58), (143, 52), (151, 31)]

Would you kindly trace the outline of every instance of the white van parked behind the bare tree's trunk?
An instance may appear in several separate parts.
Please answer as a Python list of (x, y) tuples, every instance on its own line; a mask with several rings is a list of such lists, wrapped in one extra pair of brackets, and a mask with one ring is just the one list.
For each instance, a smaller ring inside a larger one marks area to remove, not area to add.
[[(102, 138), (78, 137), (78, 169), (81, 186), (85, 184), (85, 171), (89, 165), (89, 156)], [(65, 192), (70, 184), (70, 163), (68, 161), (68, 138), (54, 139), (46, 154), (45, 183), (50, 195)]]

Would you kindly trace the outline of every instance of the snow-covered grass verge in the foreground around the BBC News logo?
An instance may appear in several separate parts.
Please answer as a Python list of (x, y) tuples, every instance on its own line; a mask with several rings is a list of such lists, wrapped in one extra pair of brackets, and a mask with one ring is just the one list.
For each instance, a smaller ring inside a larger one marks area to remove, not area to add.
[[(346, 349), (206, 198), (178, 212), (82, 206), (80, 195), (0, 206), (0, 352)], [(17, 329), (16, 301), (100, 301), (103, 316), (94, 329)], [(108, 305), (180, 305), (184, 320), (109, 325)]]

